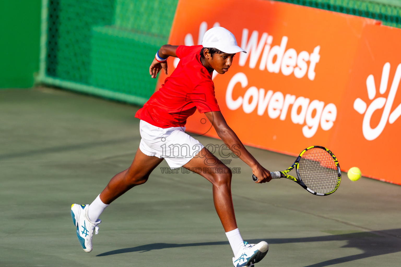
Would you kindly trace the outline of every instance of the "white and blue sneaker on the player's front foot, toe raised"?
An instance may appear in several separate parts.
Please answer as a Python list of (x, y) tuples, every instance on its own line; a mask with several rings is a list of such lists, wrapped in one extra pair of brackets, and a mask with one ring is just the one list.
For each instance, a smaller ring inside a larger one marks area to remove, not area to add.
[(269, 244), (262, 241), (255, 244), (248, 244), (244, 241), (244, 247), (233, 257), (233, 264), (235, 267), (245, 267), (253, 265), (263, 259), (269, 251)]

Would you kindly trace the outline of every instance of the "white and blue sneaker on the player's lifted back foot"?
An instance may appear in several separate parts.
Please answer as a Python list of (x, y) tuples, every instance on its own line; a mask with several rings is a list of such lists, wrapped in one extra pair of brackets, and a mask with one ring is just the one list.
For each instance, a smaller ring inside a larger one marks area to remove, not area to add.
[(99, 226), (97, 225), (101, 223), (100, 219), (97, 219), (96, 222), (89, 220), (88, 210), (89, 204), (71, 205), (71, 217), (73, 218), (75, 227), (77, 227), (78, 241), (85, 252), (92, 251), (93, 230), (95, 230), (97, 235), (99, 233)]

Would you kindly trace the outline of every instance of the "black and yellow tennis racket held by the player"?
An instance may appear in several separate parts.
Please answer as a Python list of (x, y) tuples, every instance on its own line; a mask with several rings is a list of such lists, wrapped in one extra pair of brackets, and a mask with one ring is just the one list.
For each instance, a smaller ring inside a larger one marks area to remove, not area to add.
[[(294, 168), (297, 178), (287, 174)], [(318, 196), (334, 193), (341, 182), (341, 170), (336, 156), (321, 146), (304, 149), (290, 168), (270, 174), (272, 179), (283, 177), (295, 181), (305, 190)], [(258, 180), (255, 175), (252, 175), (252, 179), (255, 182)]]

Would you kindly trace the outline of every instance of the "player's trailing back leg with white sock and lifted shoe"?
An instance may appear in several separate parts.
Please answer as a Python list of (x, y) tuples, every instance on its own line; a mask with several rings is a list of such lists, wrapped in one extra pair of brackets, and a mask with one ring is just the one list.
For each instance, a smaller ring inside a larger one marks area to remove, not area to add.
[(92, 251), (93, 231), (97, 234), (101, 221), (98, 219), (103, 210), (115, 199), (136, 185), (145, 183), (150, 173), (159, 165), (163, 159), (136, 152), (131, 166), (117, 173), (91, 205), (71, 206), (71, 217), (77, 227), (77, 237), (85, 252)]

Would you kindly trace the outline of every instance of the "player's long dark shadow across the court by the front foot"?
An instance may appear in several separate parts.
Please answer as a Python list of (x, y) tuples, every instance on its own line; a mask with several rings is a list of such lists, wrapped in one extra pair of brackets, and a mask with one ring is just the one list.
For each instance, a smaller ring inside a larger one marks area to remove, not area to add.
[[(383, 231), (371, 232), (344, 232), (344, 231), (326, 231), (329, 235), (318, 237), (301, 237), (301, 238), (276, 238), (276, 239), (251, 239), (249, 243), (259, 243), (267, 241), (269, 244), (286, 244), (286, 243), (307, 243), (307, 242), (322, 242), (322, 241), (347, 241), (347, 244), (342, 247), (353, 247), (360, 249), (363, 253), (328, 259), (320, 263), (307, 265), (305, 267), (324, 267), (357, 259), (385, 255), (401, 251), (401, 229), (388, 229)], [(146, 252), (155, 249), (168, 249), (174, 247), (195, 247), (195, 246), (212, 246), (212, 245), (228, 245), (228, 241), (219, 242), (204, 242), (204, 243), (186, 243), (186, 244), (170, 244), (170, 243), (153, 243), (137, 247), (129, 247), (125, 249), (116, 249), (96, 255), (108, 256), (128, 252)]]

